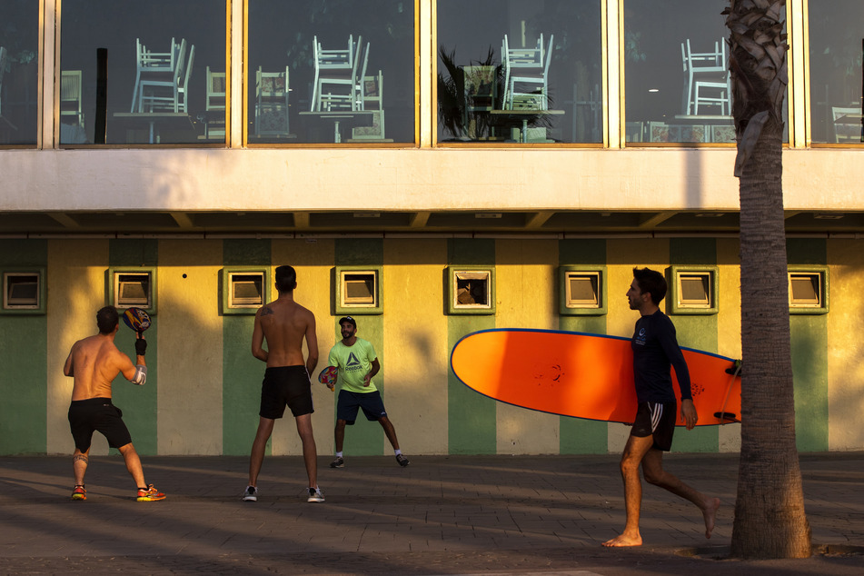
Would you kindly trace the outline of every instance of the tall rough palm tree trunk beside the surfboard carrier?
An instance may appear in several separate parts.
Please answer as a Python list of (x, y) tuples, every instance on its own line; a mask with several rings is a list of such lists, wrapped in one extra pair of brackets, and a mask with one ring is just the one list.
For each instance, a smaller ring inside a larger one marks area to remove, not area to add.
[(741, 452), (731, 554), (806, 558), (790, 353), (782, 188), (788, 83), (785, 0), (730, 0), (730, 70), (739, 141)]

